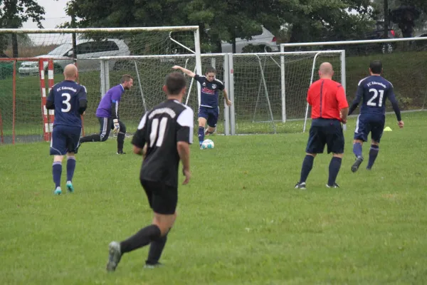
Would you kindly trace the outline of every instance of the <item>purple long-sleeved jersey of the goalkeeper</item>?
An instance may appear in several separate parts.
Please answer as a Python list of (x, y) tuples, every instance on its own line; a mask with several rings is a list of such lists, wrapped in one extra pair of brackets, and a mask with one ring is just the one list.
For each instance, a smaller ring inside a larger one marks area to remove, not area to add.
[(100, 101), (96, 109), (96, 116), (99, 118), (119, 118), (119, 102), (125, 88), (122, 84), (110, 88)]

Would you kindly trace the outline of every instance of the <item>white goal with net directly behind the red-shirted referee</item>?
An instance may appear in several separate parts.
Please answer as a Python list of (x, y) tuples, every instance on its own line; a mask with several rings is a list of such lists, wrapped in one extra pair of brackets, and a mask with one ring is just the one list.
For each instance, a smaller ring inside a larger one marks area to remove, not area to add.
[(307, 90), (325, 61), (345, 87), (344, 51), (233, 54), (231, 134), (304, 131)]

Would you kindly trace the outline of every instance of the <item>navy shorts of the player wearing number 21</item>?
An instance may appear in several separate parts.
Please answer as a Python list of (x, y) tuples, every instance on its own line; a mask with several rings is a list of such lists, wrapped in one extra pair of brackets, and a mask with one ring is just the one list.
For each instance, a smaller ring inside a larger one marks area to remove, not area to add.
[(386, 116), (381, 114), (360, 114), (357, 117), (356, 130), (354, 130), (354, 140), (368, 141), (371, 133), (371, 140), (379, 142), (384, 131)]

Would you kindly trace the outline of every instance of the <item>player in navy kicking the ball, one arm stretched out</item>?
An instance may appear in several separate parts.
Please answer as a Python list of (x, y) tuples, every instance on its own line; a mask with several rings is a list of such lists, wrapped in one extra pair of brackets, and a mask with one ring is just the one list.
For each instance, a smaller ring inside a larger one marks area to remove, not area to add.
[[(215, 78), (216, 70), (213, 67), (209, 67), (205, 73), (205, 76), (199, 76), (193, 71), (189, 71), (181, 66), (173, 66), (174, 69), (179, 69), (186, 75), (193, 77), (200, 83), (201, 86), (201, 103), (199, 106), (199, 146), (204, 141), (205, 135), (211, 135), (216, 130), (216, 123), (218, 123), (219, 105), (218, 105), (218, 90), (223, 91), (223, 97), (226, 100), (226, 104), (231, 106), (231, 100), (228, 100), (228, 94), (225, 86), (221, 81)], [(208, 129), (205, 133), (206, 123)]]

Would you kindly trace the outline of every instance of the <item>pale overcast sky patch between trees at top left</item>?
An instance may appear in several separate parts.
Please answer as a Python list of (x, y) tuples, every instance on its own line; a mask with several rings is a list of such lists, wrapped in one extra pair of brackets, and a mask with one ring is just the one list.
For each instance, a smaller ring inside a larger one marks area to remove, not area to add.
[[(43, 28), (55, 28), (59, 24), (63, 24), (65, 21), (70, 21), (70, 17), (65, 14), (65, 6), (68, 0), (36, 0), (37, 3), (45, 9), (45, 19), (41, 23)], [(36, 23), (33, 21), (27, 21), (23, 24), (23, 28), (37, 28)]]

